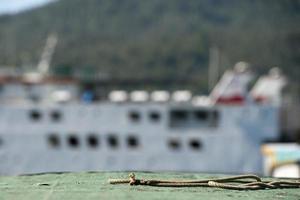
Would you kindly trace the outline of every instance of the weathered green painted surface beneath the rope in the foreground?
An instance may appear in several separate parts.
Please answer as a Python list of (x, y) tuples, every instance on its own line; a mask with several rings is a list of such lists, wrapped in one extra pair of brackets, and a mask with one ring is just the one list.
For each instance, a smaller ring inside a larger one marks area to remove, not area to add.
[[(128, 173), (64, 173), (0, 177), (0, 199), (300, 199), (300, 189), (234, 191), (218, 188), (162, 188), (110, 185)], [(204, 179), (218, 175), (136, 173), (140, 179)]]

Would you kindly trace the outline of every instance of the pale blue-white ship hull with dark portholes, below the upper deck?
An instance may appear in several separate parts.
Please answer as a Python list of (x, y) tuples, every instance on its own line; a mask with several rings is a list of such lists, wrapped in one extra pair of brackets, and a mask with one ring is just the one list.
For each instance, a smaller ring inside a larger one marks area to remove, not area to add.
[(0, 174), (62, 171), (263, 173), (278, 107), (190, 103), (0, 106)]

